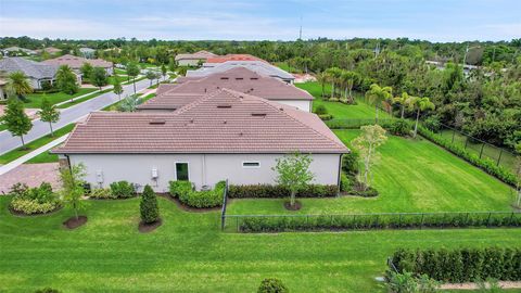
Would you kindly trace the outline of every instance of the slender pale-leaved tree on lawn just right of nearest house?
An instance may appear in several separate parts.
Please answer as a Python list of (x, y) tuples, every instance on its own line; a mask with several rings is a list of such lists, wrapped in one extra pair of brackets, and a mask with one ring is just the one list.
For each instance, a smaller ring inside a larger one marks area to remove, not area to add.
[(385, 129), (380, 125), (367, 125), (360, 127), (360, 129), (361, 133), (353, 140), (353, 146), (358, 151), (364, 163), (363, 182), (364, 190), (367, 190), (367, 188), (371, 186), (371, 166), (379, 156), (377, 149), (387, 140), (387, 137), (385, 136)]

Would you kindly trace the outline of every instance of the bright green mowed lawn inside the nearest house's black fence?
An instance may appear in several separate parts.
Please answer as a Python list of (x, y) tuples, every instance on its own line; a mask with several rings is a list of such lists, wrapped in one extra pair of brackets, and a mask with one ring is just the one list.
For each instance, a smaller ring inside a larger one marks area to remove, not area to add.
[[(334, 130), (348, 146), (360, 130)], [(300, 199), (301, 214), (511, 211), (514, 191), (428, 140), (389, 136), (373, 167), (378, 198)], [(232, 200), (228, 214), (288, 214), (284, 199)], [(291, 212), (295, 213), (295, 212)]]

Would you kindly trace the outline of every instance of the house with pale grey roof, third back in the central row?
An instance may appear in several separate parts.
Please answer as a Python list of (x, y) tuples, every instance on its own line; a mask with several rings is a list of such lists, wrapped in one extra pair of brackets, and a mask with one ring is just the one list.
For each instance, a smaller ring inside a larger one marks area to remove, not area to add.
[(216, 73), (227, 72), (234, 67), (246, 67), (262, 76), (279, 78), (288, 84), (293, 84), (295, 77), (281, 68), (265, 61), (225, 61), (223, 63), (205, 63), (202, 68), (188, 71), (187, 77), (204, 77)]

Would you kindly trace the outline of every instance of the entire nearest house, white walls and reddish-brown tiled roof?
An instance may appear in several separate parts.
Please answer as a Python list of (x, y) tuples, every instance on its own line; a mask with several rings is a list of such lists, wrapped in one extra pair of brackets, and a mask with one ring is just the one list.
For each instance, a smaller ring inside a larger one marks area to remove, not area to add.
[(296, 151), (313, 157), (314, 183), (340, 183), (348, 150), (317, 115), (219, 89), (174, 113), (91, 113), (53, 153), (82, 163), (92, 187), (127, 180), (167, 192), (170, 180), (275, 184), (276, 160)]

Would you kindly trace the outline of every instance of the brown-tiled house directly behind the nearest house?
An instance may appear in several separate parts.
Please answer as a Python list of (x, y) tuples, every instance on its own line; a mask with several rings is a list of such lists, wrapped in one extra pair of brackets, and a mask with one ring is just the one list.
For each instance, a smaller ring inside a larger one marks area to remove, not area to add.
[(162, 84), (156, 97), (138, 106), (140, 111), (173, 111), (219, 88), (275, 101), (312, 112), (313, 95), (280, 79), (260, 76), (245, 67), (234, 67), (207, 77), (179, 77), (176, 84)]

